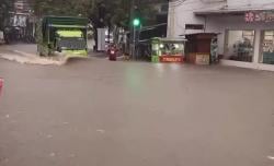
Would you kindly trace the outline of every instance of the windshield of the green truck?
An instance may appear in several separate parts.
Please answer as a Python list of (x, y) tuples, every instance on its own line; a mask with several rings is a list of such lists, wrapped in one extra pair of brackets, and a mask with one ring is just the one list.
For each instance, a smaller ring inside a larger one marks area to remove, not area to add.
[(57, 47), (61, 50), (81, 50), (87, 48), (87, 43), (82, 37), (60, 37)]

